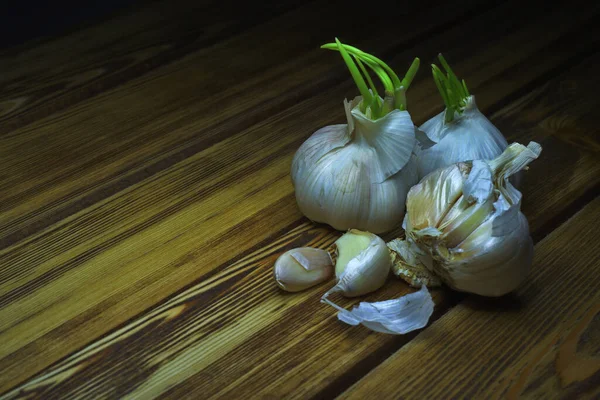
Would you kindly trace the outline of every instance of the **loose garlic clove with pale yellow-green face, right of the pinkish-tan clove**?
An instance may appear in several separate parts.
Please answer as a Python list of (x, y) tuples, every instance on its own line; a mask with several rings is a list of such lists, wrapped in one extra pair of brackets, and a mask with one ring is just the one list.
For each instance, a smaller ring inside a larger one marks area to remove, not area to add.
[(323, 297), (340, 292), (346, 297), (374, 292), (385, 283), (392, 265), (383, 239), (370, 232), (351, 229), (336, 242), (337, 284)]

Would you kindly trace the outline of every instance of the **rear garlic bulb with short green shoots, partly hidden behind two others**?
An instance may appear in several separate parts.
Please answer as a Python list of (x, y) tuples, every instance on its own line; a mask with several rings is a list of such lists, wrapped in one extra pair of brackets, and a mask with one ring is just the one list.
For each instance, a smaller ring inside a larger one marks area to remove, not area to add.
[(432, 145), (419, 153), (419, 178), (460, 161), (491, 160), (508, 146), (502, 133), (483, 115), (469, 93), (440, 54), (442, 72), (432, 65), (433, 79), (446, 109), (419, 127)]

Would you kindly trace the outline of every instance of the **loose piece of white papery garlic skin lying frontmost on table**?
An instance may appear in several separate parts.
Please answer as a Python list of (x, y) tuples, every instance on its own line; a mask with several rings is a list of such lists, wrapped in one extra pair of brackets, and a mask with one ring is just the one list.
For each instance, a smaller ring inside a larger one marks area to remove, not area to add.
[(322, 301), (339, 310), (340, 321), (349, 325), (362, 324), (375, 332), (392, 335), (402, 335), (425, 327), (434, 308), (425, 285), (418, 292), (398, 299), (361, 302), (352, 311), (345, 310), (327, 299)]

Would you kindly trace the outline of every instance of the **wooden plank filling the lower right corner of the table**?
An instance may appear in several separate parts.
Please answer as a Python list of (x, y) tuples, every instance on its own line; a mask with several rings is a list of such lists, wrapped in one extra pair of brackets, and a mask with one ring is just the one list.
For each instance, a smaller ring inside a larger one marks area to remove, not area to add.
[(598, 398), (600, 198), (535, 248), (527, 285), (469, 297), (340, 398)]

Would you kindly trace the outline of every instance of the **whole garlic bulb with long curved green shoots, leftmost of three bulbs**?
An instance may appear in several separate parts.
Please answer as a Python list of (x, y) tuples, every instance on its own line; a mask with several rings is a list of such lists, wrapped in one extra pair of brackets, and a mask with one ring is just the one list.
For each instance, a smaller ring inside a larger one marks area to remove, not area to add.
[[(401, 80), (380, 59), (337, 38), (323, 48), (341, 53), (361, 96), (344, 101), (346, 124), (319, 129), (296, 152), (291, 177), (298, 206), (338, 230), (389, 231), (401, 223), (406, 194), (418, 180), (405, 92), (419, 60)], [(383, 97), (368, 69), (381, 81)]]

